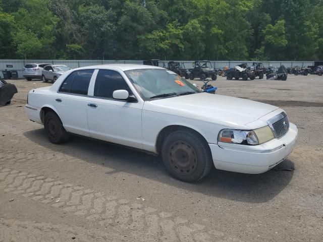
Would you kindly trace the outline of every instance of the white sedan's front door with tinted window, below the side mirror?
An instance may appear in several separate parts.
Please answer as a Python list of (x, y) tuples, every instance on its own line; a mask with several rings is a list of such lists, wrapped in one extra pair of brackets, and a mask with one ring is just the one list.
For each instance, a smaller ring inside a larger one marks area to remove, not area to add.
[(98, 71), (87, 106), (89, 131), (93, 138), (142, 149), (143, 101), (138, 97), (136, 102), (113, 98), (115, 90), (133, 95), (125, 79), (126, 75), (117, 70)]

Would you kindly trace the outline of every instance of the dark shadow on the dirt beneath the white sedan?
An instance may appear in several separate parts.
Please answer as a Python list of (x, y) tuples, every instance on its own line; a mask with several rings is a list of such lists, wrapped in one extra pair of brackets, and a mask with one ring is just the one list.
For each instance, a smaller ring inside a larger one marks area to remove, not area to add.
[(276, 170), (262, 174), (213, 168), (204, 179), (189, 184), (170, 177), (159, 157), (140, 151), (77, 136), (72, 136), (64, 145), (54, 145), (48, 141), (43, 129), (25, 132), (24, 136), (54, 152), (112, 169), (106, 174), (127, 172), (187, 191), (248, 203), (264, 203), (273, 199), (290, 183), (294, 173), (294, 163), (286, 159), (276, 166)]

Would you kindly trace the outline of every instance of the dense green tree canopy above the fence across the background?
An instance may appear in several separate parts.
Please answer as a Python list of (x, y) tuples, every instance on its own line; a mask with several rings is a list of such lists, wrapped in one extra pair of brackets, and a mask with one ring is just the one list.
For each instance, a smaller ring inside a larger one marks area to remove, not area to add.
[(0, 0), (0, 58), (323, 59), (322, 0)]

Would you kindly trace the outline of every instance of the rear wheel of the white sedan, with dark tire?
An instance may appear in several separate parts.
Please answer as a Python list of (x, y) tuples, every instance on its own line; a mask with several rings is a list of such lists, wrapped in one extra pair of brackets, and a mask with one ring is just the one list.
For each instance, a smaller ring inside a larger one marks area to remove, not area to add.
[(69, 140), (70, 135), (63, 127), (59, 116), (52, 111), (45, 114), (44, 129), (49, 141), (53, 144), (62, 144)]

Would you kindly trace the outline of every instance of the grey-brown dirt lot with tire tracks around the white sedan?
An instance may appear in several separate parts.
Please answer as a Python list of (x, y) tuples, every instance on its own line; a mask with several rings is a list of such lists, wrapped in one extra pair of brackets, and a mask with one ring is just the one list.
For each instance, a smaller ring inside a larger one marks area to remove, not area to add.
[(0, 241), (322, 241), (323, 77), (212, 82), (218, 94), (285, 109), (298, 144), (276, 170), (213, 169), (196, 184), (137, 151), (79, 137), (49, 143), (24, 104), (51, 84), (10, 82), (19, 93), (0, 107)]

